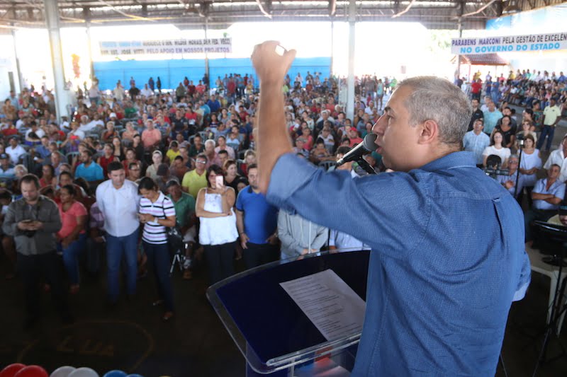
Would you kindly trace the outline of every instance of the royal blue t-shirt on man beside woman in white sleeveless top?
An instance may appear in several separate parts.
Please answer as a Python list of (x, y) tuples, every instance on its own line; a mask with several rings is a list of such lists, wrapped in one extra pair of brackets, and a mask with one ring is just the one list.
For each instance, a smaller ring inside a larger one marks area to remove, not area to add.
[(278, 226), (278, 209), (266, 202), (262, 193), (246, 186), (236, 199), (236, 209), (244, 212), (244, 231), (251, 243), (263, 245)]

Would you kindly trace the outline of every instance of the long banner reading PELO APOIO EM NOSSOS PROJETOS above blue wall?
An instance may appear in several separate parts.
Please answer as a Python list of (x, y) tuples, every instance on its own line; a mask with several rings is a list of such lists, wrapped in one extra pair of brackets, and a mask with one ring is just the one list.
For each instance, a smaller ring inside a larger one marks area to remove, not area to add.
[(232, 52), (232, 38), (202, 40), (126, 40), (100, 42), (101, 55), (203, 54)]

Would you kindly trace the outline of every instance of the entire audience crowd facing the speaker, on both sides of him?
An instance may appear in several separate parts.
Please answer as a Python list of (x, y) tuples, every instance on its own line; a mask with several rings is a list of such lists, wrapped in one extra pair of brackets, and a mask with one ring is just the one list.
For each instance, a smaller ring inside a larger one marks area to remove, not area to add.
[[(526, 221), (549, 219), (564, 197), (567, 138), (545, 164), (540, 151), (545, 142), (549, 150), (566, 109), (565, 77), (539, 80), (517, 74), (495, 80), (494, 89), (488, 76), (482, 105), (483, 88), (481, 93), (471, 88), (473, 117), (464, 149), (475, 153), (480, 168), (505, 171), (496, 179), (520, 202), (527, 196)], [(376, 76), (357, 79), (350, 119), (338, 103), (338, 79), (309, 71), (305, 77), (287, 76), (282, 91), (293, 152), (335, 168), (335, 161), (371, 132), (396, 83)], [(106, 260), (109, 305), (119, 299), (122, 271), (126, 294), (133, 295), (137, 279), (151, 265), (157, 285), (152, 304), (163, 305), (162, 319), (171, 319), (167, 229), (175, 226), (184, 240), (184, 250), (179, 250), (184, 279), (191, 279), (193, 260), (204, 255), (210, 284), (234, 273), (235, 258), (252, 268), (325, 248), (368, 248), (266, 202), (258, 188), (254, 152), (254, 77), (230, 74), (218, 77), (213, 86), (211, 91), (203, 76), (198, 85), (185, 79), (166, 91), (158, 77), (140, 91), (132, 78), (128, 91), (118, 81), (106, 95), (94, 79), (89, 90), (79, 88), (74, 114), (60, 120), (50, 91), (25, 88), (6, 98), (0, 115), (2, 246), (10, 263), (6, 277), (18, 272), (26, 282), (26, 325), (38, 317), (40, 271), (44, 289), (52, 291), (68, 320), (63, 282), (69, 293), (79, 294), (79, 271), (96, 274), (103, 270), (101, 260)], [(526, 106), (521, 118), (511, 103)], [(376, 173), (385, 170), (378, 153), (364, 158)], [(538, 180), (541, 168), (547, 178)], [(367, 174), (352, 162), (337, 169), (349, 171), (353, 179)], [(567, 217), (561, 221), (567, 224)], [(64, 277), (56, 276), (60, 260)], [(79, 267), (81, 260), (86, 260), (84, 267)]]

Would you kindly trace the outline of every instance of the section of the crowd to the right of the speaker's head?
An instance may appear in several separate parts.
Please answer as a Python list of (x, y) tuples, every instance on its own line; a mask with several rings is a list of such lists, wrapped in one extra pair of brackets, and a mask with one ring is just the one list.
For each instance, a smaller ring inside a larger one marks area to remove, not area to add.
[[(478, 167), (487, 169), (520, 205), (527, 197), (526, 240), (539, 248), (542, 240), (533, 221), (567, 225), (567, 134), (551, 151), (555, 130), (567, 116), (567, 77), (517, 69), (507, 78), (493, 79), (488, 72), (483, 79), (477, 72), (471, 83), (455, 82), (473, 106), (464, 149), (475, 153)], [(517, 107), (521, 116), (515, 114)]]

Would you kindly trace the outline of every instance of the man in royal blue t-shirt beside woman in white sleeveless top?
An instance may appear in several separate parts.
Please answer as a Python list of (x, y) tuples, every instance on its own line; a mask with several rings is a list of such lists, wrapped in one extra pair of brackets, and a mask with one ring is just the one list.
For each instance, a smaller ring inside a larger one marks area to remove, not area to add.
[(236, 199), (236, 226), (247, 269), (279, 258), (278, 209), (268, 204), (264, 194), (258, 190), (258, 167), (255, 163), (248, 167), (248, 182), (250, 185), (240, 190)]

